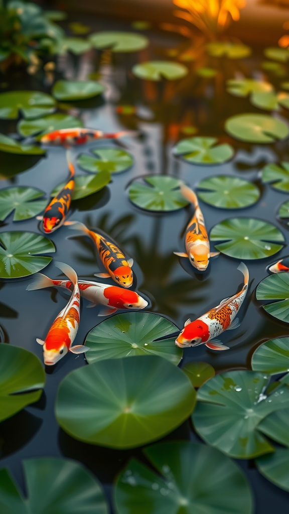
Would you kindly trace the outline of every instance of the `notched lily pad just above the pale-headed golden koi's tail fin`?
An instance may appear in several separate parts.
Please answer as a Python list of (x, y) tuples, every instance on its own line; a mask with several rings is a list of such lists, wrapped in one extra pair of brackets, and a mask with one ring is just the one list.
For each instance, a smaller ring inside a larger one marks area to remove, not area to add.
[(215, 137), (189, 137), (180, 140), (173, 149), (175, 155), (193, 164), (220, 164), (231, 159), (234, 150), (229, 144), (216, 144)]

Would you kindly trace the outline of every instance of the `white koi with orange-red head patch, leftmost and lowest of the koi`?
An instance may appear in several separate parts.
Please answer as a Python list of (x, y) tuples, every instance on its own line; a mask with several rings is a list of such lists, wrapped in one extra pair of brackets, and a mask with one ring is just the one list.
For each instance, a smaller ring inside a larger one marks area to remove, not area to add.
[(66, 274), (74, 289), (66, 307), (60, 311), (49, 328), (45, 341), (37, 339), (37, 342), (43, 345), (44, 364), (47, 366), (56, 364), (67, 352), (80, 354), (89, 350), (82, 344), (71, 346), (75, 340), (80, 319), (80, 293), (77, 274), (68, 264), (56, 262), (55, 265)]

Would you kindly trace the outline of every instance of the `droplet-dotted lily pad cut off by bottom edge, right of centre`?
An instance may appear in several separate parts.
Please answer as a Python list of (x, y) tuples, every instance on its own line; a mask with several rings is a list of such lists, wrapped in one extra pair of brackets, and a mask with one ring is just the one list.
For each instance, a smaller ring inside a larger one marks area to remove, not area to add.
[(218, 450), (173, 441), (142, 451), (153, 469), (133, 458), (121, 471), (114, 496), (118, 514), (252, 514), (243, 472)]

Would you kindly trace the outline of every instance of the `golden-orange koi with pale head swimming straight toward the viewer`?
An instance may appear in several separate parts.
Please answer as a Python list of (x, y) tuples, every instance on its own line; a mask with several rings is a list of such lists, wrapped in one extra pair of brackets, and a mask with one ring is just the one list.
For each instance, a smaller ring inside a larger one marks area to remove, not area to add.
[(210, 257), (219, 255), (220, 252), (210, 253), (210, 243), (205, 226), (204, 216), (200, 207), (198, 206), (195, 193), (184, 184), (180, 186), (180, 192), (184, 198), (189, 200), (194, 205), (195, 213), (186, 229), (185, 244), (187, 253), (174, 253), (179, 257), (187, 257), (194, 268), (198, 269), (199, 271), (205, 271), (208, 267)]

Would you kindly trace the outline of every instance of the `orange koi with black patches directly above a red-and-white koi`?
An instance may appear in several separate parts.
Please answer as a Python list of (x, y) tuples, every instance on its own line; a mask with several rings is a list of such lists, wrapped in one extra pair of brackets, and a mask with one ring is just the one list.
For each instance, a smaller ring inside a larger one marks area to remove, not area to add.
[(121, 250), (111, 241), (107, 241), (103, 235), (89, 230), (80, 222), (65, 222), (72, 230), (80, 230), (84, 234), (91, 237), (96, 245), (103, 266), (108, 273), (95, 273), (96, 277), (107, 278), (112, 277), (122, 287), (131, 287), (133, 283), (132, 265), (133, 259), (127, 260)]

